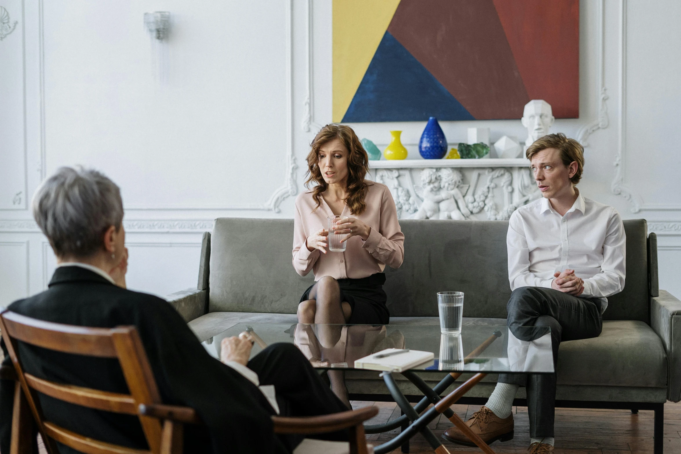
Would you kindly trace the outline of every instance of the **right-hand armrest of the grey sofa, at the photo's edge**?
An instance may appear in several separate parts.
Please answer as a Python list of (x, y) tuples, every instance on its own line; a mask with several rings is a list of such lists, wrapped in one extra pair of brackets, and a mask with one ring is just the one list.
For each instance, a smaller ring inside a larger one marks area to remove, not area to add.
[(668, 291), (650, 298), (650, 326), (667, 352), (667, 399), (681, 400), (681, 301)]

